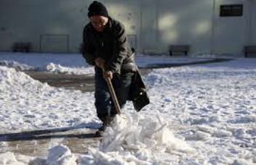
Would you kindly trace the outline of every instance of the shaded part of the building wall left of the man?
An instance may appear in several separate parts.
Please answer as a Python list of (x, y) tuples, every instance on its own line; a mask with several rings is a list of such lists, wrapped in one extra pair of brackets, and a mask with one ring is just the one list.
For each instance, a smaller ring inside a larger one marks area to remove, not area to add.
[(10, 50), (13, 42), (32, 42), (33, 51), (78, 51), (87, 22), (85, 5), (82, 0), (1, 0), (0, 49)]

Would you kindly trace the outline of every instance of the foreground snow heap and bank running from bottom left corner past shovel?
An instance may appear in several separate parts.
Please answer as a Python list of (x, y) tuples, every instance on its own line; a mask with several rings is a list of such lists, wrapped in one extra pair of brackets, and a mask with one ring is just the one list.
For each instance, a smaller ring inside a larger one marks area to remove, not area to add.
[[(131, 127), (127, 127), (129, 124)], [(89, 153), (71, 153), (65, 145), (49, 149), (47, 158), (23, 158), (29, 164), (178, 164), (193, 162), (197, 152), (176, 138), (169, 125), (161, 117), (145, 119), (137, 114), (116, 117), (112, 127), (104, 133), (99, 148), (89, 148)], [(18, 163), (12, 153), (0, 154), (3, 162)], [(189, 160), (189, 161), (188, 161)]]

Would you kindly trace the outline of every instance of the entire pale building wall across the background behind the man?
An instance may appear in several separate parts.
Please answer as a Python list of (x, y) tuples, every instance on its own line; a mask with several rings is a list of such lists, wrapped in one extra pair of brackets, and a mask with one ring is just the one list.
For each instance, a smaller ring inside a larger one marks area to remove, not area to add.
[[(124, 23), (140, 53), (167, 54), (170, 44), (188, 44), (190, 54), (241, 55), (256, 45), (255, 0), (102, 0)], [(1, 0), (0, 50), (31, 42), (33, 51), (79, 51), (92, 0)], [(244, 4), (242, 17), (220, 17), (220, 4)]]

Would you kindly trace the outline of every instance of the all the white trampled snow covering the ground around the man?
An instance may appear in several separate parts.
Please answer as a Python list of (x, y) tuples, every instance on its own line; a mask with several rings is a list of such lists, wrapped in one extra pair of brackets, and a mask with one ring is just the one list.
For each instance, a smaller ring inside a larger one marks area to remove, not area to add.
[[(49, 63), (60, 64), (54, 55), (31, 57), (31, 63), (17, 60), (17, 54), (7, 55), (1, 54), (0, 61), (41, 68), (41, 62), (52, 58)], [(21, 54), (20, 59), (23, 55), (32, 56)], [(77, 65), (70, 65), (71, 56)], [(155, 63), (162, 58), (171, 63), (195, 60), (153, 57)], [(60, 59), (67, 69), (84, 65), (73, 55)], [(143, 57), (140, 60), (143, 63)], [(147, 61), (152, 58), (144, 64)], [(47, 158), (2, 153), (0, 164), (256, 164), (256, 59), (153, 69), (143, 78), (151, 104), (136, 113), (127, 103), (99, 148), (75, 154), (57, 145)], [(52, 88), (16, 69), (0, 67), (1, 133), (99, 123), (93, 93)]]

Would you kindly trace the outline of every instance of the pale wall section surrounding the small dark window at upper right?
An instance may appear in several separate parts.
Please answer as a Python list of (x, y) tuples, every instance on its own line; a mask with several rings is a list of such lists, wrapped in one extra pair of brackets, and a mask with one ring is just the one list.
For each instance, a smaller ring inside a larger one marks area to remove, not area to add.
[[(220, 5), (244, 4), (241, 17), (220, 17)], [(213, 20), (213, 54), (240, 56), (247, 43), (249, 30), (249, 4), (244, 0), (215, 1), (215, 19)]]

